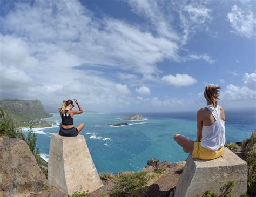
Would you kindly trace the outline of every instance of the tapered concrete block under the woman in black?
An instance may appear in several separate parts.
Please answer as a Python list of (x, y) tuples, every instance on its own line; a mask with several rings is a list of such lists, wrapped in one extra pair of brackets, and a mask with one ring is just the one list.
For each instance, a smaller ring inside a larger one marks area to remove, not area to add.
[(93, 192), (103, 186), (83, 135), (52, 134), (48, 182), (69, 195), (80, 190)]

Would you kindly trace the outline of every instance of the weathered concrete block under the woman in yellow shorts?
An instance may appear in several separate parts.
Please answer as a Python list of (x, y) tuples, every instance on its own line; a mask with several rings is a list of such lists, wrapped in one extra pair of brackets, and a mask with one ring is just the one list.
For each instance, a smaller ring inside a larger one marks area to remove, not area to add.
[(246, 193), (247, 170), (247, 163), (227, 147), (223, 156), (213, 160), (194, 159), (190, 154), (176, 186), (174, 197), (194, 197), (207, 190), (221, 195), (230, 180), (235, 181), (232, 194)]

